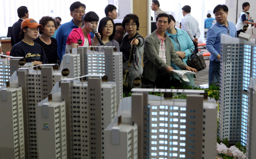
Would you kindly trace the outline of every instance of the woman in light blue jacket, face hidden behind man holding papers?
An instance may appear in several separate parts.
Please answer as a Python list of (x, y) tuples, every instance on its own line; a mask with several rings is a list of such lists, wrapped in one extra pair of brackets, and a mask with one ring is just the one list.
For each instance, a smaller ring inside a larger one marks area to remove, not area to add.
[[(169, 38), (171, 38), (176, 53), (186, 64), (188, 57), (190, 57), (190, 55), (193, 54), (192, 51), (194, 51), (195, 46), (193, 44), (193, 41), (188, 36), (187, 32), (181, 29), (175, 29), (176, 21), (172, 15), (169, 14), (169, 16), (171, 17), (171, 22), (170, 26), (167, 28), (166, 34), (169, 36)], [(174, 70), (181, 70), (173, 62), (171, 62), (171, 67), (174, 68)], [(180, 79), (180, 77), (175, 75), (174, 73), (173, 75), (176, 79), (181, 80), (182, 85), (192, 87), (195, 86), (194, 74), (187, 74), (187, 78), (189, 79), (190, 82), (186, 82), (183, 79)]]

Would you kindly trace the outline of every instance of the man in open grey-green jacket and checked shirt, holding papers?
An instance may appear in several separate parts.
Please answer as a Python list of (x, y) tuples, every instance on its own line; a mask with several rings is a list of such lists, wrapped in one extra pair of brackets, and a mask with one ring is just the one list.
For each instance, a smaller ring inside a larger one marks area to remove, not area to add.
[(171, 60), (182, 70), (197, 72), (196, 69), (187, 66), (174, 49), (171, 39), (165, 34), (171, 22), (171, 18), (161, 13), (157, 16), (157, 29), (145, 38), (144, 44), (144, 73), (145, 84), (150, 87), (170, 88), (172, 77), (170, 73), (174, 70), (171, 67)]

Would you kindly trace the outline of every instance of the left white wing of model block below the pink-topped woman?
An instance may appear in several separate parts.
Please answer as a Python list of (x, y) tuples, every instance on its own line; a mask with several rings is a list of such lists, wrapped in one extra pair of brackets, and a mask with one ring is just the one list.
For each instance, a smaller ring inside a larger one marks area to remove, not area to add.
[(67, 78), (76, 78), (81, 75), (80, 72), (80, 54), (64, 54), (62, 56), (63, 69), (69, 69)]

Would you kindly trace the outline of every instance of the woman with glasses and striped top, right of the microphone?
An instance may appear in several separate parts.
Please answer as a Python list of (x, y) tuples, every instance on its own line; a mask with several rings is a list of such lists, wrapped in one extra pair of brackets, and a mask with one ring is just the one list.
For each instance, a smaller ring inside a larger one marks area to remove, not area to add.
[[(114, 40), (115, 37), (115, 23), (113, 19), (108, 16), (102, 18), (98, 25), (98, 33), (100, 33), (104, 45), (100, 45), (97, 38), (92, 39), (92, 46), (113, 46), (117, 52), (120, 52), (119, 43)], [(103, 52), (104, 48), (96, 48), (95, 51)]]

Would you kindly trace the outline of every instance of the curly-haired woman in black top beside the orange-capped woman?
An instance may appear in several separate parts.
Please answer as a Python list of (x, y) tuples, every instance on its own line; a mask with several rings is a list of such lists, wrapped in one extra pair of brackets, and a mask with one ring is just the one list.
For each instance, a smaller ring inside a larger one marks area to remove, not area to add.
[(41, 45), (49, 64), (57, 64), (57, 60), (59, 59), (57, 54), (57, 41), (55, 38), (51, 38), (57, 28), (56, 20), (49, 16), (43, 16), (39, 20), (39, 24), (43, 25), (42, 29), (39, 28), (41, 36), (36, 38), (34, 42)]

